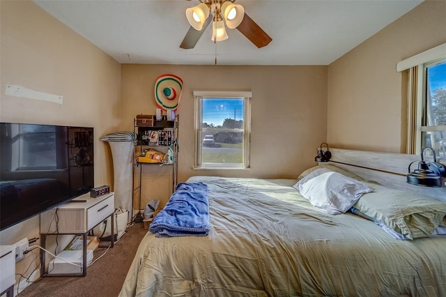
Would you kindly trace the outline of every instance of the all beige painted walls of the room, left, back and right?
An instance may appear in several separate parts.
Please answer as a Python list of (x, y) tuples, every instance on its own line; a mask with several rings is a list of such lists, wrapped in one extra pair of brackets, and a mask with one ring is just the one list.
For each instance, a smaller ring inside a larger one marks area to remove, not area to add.
[[(179, 181), (194, 175), (295, 178), (316, 165), (316, 148), (325, 141), (403, 151), (405, 98), (396, 63), (446, 41), (446, 2), (427, 1), (328, 67), (120, 66), (31, 1), (1, 1), (0, 8), (1, 121), (93, 126), (97, 185), (113, 183), (109, 147), (98, 138), (133, 130), (136, 114), (154, 114), (154, 82), (165, 73), (184, 81)], [(61, 95), (63, 105), (6, 96), (6, 84)], [(251, 168), (193, 170), (192, 92), (233, 90), (253, 92)], [(168, 174), (166, 167), (144, 168), (142, 204), (167, 201)], [(24, 236), (38, 237), (38, 218), (2, 231), (0, 243)], [(29, 261), (19, 262), (18, 270)]]

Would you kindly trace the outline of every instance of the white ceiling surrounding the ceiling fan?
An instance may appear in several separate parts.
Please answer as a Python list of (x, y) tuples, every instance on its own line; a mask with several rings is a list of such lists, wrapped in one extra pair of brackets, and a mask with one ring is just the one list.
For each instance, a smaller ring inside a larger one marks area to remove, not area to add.
[(208, 65), (217, 55), (220, 65), (328, 65), (422, 1), (237, 0), (272, 42), (258, 49), (227, 29), (214, 44), (208, 26), (192, 50), (179, 45), (198, 0), (35, 2), (119, 63)]

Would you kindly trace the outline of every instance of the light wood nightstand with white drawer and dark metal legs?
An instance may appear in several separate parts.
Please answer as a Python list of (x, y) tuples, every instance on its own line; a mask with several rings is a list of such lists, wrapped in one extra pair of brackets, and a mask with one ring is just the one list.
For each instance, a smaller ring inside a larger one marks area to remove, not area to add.
[[(72, 276), (86, 275), (87, 250), (86, 237), (93, 227), (111, 217), (112, 234), (114, 232), (114, 192), (92, 198), (87, 193), (79, 196), (66, 204), (55, 207), (40, 214), (40, 235), (43, 248), (45, 248), (46, 236), (56, 234), (83, 234), (83, 264), (82, 273), (69, 274)], [(54, 218), (58, 218), (57, 223)], [(114, 241), (111, 246), (113, 247)], [(45, 263), (45, 252), (40, 251), (40, 261)], [(46, 264), (40, 267), (41, 275), (47, 275)], [(52, 274), (56, 276), (56, 274)]]

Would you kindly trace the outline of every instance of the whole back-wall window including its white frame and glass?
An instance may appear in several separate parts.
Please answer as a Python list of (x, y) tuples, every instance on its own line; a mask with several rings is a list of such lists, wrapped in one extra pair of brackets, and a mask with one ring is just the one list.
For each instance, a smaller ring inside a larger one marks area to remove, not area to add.
[(194, 97), (194, 168), (248, 168), (251, 92), (195, 91)]

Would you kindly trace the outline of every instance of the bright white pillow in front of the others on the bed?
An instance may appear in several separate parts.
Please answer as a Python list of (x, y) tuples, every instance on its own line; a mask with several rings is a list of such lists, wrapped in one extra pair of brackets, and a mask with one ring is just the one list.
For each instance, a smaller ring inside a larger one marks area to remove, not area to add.
[(346, 213), (363, 194), (373, 191), (365, 183), (337, 172), (316, 176), (298, 188), (311, 204), (330, 215)]

